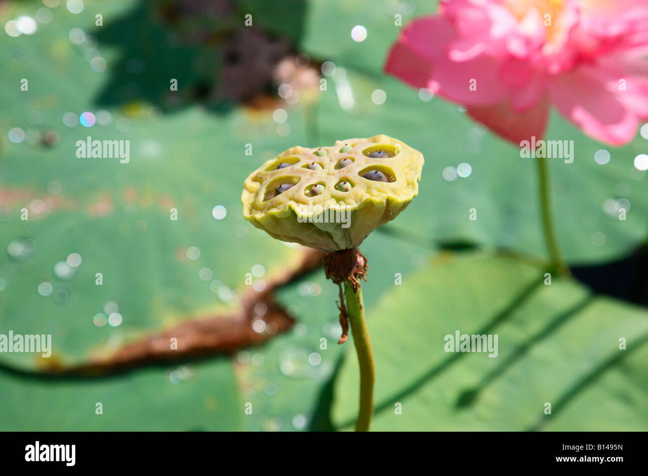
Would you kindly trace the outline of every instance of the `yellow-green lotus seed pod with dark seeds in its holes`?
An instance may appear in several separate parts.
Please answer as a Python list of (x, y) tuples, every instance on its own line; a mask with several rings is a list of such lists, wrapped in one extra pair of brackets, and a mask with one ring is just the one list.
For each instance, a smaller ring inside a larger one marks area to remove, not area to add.
[[(283, 163), (290, 168), (277, 168)], [(278, 240), (328, 252), (357, 247), (417, 196), (422, 167), (421, 152), (386, 135), (296, 146), (249, 175), (243, 214)]]

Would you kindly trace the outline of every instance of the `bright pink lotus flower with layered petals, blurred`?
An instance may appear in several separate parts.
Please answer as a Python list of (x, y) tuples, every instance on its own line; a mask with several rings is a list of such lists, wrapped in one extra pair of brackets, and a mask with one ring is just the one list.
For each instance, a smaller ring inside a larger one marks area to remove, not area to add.
[(550, 104), (608, 144), (648, 120), (648, 0), (446, 0), (407, 25), (388, 73), (463, 104), (510, 141)]

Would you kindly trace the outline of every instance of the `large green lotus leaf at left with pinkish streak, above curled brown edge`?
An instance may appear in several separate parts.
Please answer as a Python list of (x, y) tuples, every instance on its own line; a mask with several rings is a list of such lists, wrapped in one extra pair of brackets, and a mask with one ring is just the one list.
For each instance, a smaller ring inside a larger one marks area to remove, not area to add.
[[(36, 6), (12, 4), (3, 19), (33, 15)], [(55, 358), (42, 365), (81, 363), (172, 324), (236, 308), (230, 297), (251, 290), (246, 274), (253, 266), (261, 265), (256, 278), (267, 280), (290, 272), (302, 255), (269, 240), (240, 214), (249, 171), (293, 145), (294, 139), (277, 135), (270, 112), (216, 117), (192, 108), (160, 118), (135, 103), (110, 109), (105, 124), (65, 126), (67, 112), (97, 113), (93, 95), (111, 66), (106, 54), (108, 69), (93, 71), (89, 60), (99, 53), (87, 55), (68, 38), (72, 28), (94, 27), (95, 12), (108, 21), (117, 11), (112, 2), (86, 6), (80, 15), (56, 8), (52, 22), (34, 35), (5, 37), (0, 45), (14, 58), (0, 78), (2, 137), (12, 128), (27, 135), (18, 143), (2, 139), (0, 152), (0, 332), (53, 334)], [(29, 91), (19, 90), (20, 78), (29, 80)], [(299, 117), (293, 133), (303, 137)], [(49, 146), (32, 140), (45, 130), (60, 140)], [(130, 161), (77, 157), (77, 141), (87, 136), (130, 141)], [(21, 220), (22, 209), (29, 220)], [(172, 209), (178, 220), (171, 219)], [(25, 240), (29, 253), (20, 251)], [(62, 280), (54, 266), (71, 253), (82, 263)], [(53, 292), (41, 297), (43, 282)], [(221, 286), (233, 293), (218, 293)], [(106, 302), (119, 305), (121, 325), (93, 324), (95, 314), (106, 313)], [(39, 365), (32, 354), (6, 354), (3, 362)]]

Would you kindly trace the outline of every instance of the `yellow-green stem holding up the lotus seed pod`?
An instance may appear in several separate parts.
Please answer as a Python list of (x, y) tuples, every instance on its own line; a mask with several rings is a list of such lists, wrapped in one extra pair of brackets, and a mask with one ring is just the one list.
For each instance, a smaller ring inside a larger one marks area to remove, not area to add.
[(369, 328), (367, 328), (365, 319), (362, 288), (358, 286), (358, 290), (354, 291), (348, 281), (344, 283), (344, 288), (353, 343), (356, 346), (358, 363), (360, 363), (360, 411), (358, 412), (356, 431), (369, 431), (373, 415), (373, 384), (376, 380), (376, 365), (373, 361)]

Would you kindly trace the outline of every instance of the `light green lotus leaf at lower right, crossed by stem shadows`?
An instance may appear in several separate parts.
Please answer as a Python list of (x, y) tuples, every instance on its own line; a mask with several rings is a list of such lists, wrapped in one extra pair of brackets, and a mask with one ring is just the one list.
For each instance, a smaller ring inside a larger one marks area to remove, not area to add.
[[(509, 256), (443, 253), (367, 310), (373, 429), (648, 429), (648, 313), (572, 280), (544, 284), (543, 273)], [(497, 357), (445, 352), (457, 330), (498, 335)], [(332, 419), (347, 428), (358, 407), (355, 359), (334, 390)]]

